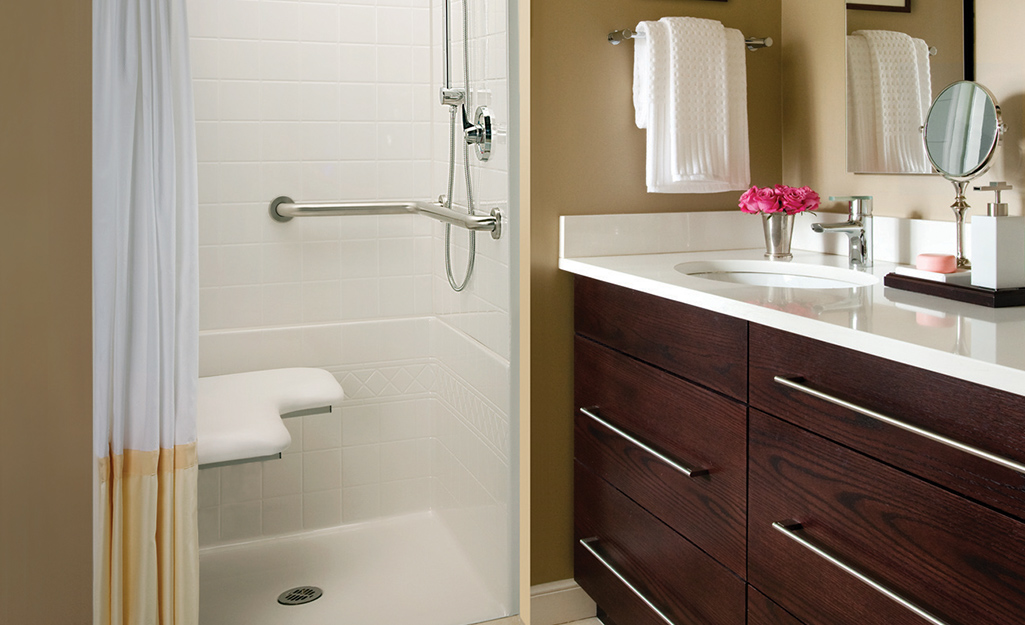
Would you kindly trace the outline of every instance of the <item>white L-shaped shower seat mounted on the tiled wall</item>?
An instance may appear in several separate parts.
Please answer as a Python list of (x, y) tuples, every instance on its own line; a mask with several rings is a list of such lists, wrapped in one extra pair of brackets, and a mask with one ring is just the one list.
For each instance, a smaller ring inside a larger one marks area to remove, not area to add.
[(278, 458), (292, 442), (283, 418), (330, 412), (342, 399), (333, 375), (311, 368), (204, 377), (198, 394), (201, 467)]

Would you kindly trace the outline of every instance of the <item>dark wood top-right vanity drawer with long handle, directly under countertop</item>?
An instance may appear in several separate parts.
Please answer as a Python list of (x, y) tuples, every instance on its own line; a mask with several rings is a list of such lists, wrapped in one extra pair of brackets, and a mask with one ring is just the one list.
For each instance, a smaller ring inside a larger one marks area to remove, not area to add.
[(1025, 519), (1022, 472), (808, 390), (1019, 464), (1025, 464), (1025, 398), (755, 324), (750, 350), (752, 408)]

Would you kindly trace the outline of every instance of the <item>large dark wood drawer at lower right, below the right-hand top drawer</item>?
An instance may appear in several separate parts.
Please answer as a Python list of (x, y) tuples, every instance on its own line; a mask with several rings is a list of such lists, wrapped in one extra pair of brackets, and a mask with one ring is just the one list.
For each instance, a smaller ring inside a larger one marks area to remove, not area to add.
[(847, 566), (932, 622), (1025, 623), (1025, 524), (758, 411), (749, 422), (752, 586), (810, 625), (931, 622)]

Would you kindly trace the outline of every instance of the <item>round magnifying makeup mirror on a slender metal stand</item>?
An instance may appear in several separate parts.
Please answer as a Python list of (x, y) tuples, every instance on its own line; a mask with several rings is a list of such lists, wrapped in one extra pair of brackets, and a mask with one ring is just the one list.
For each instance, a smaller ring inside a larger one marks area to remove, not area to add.
[(954, 185), (950, 208), (957, 224), (957, 266), (972, 266), (965, 257), (965, 190), (986, 173), (1003, 134), (1000, 108), (989, 89), (961, 80), (943, 89), (929, 109), (922, 136), (933, 167)]

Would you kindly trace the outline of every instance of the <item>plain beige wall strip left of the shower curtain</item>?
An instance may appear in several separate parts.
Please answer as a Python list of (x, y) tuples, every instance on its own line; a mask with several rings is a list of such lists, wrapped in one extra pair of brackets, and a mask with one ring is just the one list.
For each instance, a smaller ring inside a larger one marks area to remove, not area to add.
[(0, 24), (0, 623), (89, 623), (91, 8)]

